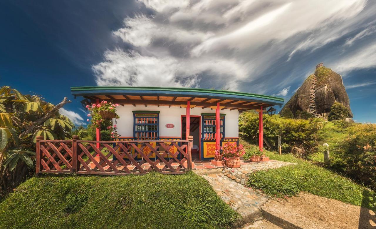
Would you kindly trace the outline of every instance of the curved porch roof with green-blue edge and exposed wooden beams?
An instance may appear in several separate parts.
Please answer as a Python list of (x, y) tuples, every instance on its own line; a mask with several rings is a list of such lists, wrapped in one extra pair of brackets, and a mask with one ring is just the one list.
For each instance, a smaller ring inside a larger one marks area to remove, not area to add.
[(210, 108), (220, 103), (221, 109), (252, 110), (282, 105), (283, 98), (241, 92), (209, 89), (181, 89), (161, 87), (71, 87), (72, 95), (83, 96), (90, 102), (97, 99), (112, 101), (121, 105), (157, 105)]

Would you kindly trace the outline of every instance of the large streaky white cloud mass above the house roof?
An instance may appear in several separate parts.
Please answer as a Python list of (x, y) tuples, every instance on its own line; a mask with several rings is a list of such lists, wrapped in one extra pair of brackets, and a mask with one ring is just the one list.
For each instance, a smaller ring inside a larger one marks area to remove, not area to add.
[[(257, 82), (254, 87), (265, 90), (275, 82), (258, 79), (278, 61), (354, 33), (375, 8), (365, 7), (366, 0), (139, 2), (154, 15), (127, 17), (124, 26), (113, 32), (132, 50), (104, 53), (105, 60), (92, 66), (98, 85), (198, 87), (209, 82), (211, 87), (230, 84), (226, 87), (237, 90)], [(359, 32), (347, 42), (352, 44), (369, 32)], [(370, 65), (359, 62), (354, 65)], [(278, 87), (290, 81), (283, 79)]]

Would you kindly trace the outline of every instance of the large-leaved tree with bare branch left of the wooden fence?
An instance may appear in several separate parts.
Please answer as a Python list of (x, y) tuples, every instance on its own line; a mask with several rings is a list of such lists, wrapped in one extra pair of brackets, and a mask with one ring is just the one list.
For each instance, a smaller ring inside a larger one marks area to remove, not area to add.
[(65, 97), (55, 106), (36, 95), (0, 88), (0, 192), (11, 191), (30, 174), (37, 136), (71, 137), (73, 123), (59, 114), (69, 102)]

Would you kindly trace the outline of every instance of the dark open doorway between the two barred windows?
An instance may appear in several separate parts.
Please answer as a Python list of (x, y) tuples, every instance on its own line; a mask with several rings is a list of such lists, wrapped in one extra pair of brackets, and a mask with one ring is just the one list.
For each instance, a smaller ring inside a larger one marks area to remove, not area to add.
[[(190, 117), (190, 135), (193, 136), (192, 159), (200, 159), (200, 116)], [(182, 116), (182, 140), (186, 139), (186, 116)]]

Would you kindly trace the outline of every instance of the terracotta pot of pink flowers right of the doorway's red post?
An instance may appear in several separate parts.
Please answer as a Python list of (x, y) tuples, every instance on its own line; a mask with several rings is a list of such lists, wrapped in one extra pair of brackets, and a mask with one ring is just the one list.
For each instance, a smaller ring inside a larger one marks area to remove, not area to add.
[(242, 144), (237, 146), (235, 142), (227, 142), (221, 147), (221, 150), (227, 167), (240, 168), (240, 157), (245, 153)]

